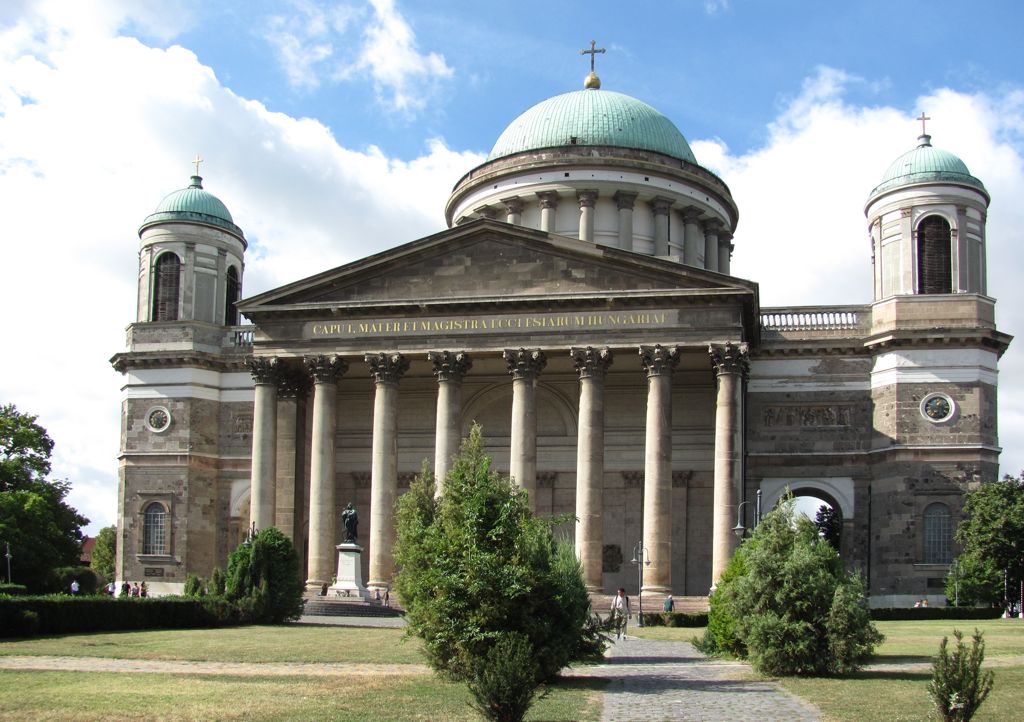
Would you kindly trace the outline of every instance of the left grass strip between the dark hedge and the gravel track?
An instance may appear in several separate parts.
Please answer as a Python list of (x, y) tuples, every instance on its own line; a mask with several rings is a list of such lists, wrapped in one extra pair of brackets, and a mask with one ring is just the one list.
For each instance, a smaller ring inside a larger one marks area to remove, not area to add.
[(8, 640), (0, 655), (102, 656), (186, 662), (423, 664), (418, 640), (400, 629), (282, 625), (101, 632)]

